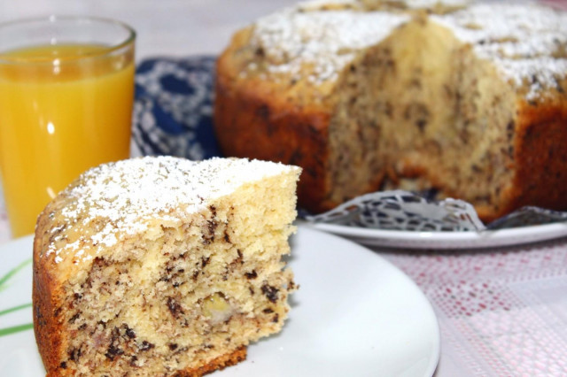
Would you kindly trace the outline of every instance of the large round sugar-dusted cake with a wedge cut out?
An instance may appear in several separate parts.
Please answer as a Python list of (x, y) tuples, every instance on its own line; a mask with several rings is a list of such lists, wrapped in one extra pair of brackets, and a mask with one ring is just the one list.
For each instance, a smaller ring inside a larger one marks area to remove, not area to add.
[(384, 188), (484, 220), (567, 210), (566, 47), (566, 13), (539, 4), (298, 4), (218, 59), (216, 134), (227, 156), (302, 166), (312, 212)]

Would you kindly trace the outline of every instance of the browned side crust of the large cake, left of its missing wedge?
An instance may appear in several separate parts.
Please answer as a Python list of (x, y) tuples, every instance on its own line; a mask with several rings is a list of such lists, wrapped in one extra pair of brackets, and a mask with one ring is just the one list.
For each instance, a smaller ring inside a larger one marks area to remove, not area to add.
[(329, 112), (312, 104), (298, 107), (278, 101), (274, 88), (264, 81), (235, 86), (237, 73), (230, 54), (222, 55), (217, 67), (214, 119), (225, 155), (303, 166), (299, 204), (315, 212), (335, 206), (325, 196), (329, 190)]

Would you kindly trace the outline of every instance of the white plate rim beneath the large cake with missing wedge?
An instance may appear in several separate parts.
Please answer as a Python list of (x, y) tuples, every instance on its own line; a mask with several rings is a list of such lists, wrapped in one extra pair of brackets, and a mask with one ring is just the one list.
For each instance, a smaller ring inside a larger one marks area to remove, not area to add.
[(474, 249), (540, 242), (567, 236), (567, 222), (512, 227), (484, 232), (410, 232), (400, 230), (308, 224), (309, 227), (343, 235), (368, 246), (408, 249)]

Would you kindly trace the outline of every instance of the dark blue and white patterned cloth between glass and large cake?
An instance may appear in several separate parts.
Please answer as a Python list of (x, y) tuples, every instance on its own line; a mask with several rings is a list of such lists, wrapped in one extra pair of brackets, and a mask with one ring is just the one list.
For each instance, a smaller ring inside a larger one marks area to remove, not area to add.
[(143, 155), (221, 155), (213, 128), (214, 62), (151, 58), (138, 65), (133, 137)]

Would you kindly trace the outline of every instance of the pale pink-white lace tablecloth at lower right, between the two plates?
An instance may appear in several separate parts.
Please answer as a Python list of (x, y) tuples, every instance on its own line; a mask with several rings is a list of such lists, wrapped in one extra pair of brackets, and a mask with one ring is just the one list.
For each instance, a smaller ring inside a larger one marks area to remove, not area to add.
[(430, 299), (442, 375), (567, 375), (567, 240), (377, 252)]

